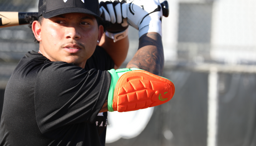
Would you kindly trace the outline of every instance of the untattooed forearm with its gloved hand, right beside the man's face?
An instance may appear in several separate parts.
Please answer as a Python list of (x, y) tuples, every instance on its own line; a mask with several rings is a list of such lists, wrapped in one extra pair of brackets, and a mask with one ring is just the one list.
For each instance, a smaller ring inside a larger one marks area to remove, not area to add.
[(129, 38), (126, 16), (126, 2), (110, 0), (100, 1), (101, 17), (104, 18), (109, 25), (106, 27), (106, 33), (101, 37), (99, 46), (105, 49), (115, 63), (118, 69), (125, 61), (129, 49)]

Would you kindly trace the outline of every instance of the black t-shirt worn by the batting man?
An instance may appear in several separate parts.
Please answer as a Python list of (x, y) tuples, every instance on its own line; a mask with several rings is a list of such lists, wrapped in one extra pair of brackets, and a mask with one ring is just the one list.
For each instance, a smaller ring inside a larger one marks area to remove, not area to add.
[(100, 145), (96, 119), (113, 67), (100, 47), (85, 69), (28, 52), (6, 87), (0, 145)]

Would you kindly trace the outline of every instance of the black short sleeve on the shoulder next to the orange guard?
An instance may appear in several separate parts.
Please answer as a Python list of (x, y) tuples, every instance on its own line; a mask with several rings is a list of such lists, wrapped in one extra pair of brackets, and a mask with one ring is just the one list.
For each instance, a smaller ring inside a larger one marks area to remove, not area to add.
[(42, 133), (69, 124), (93, 123), (107, 99), (111, 75), (76, 67), (65, 62), (48, 62), (36, 78), (35, 109)]

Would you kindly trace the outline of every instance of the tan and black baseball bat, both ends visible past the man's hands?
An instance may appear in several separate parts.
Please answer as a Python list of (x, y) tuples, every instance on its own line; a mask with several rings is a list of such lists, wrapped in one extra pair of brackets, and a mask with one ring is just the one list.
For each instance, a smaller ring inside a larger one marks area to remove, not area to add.
[[(169, 16), (168, 2), (161, 3), (163, 16)], [(26, 17), (37, 16), (37, 12), (0, 12), (0, 28), (28, 24)]]

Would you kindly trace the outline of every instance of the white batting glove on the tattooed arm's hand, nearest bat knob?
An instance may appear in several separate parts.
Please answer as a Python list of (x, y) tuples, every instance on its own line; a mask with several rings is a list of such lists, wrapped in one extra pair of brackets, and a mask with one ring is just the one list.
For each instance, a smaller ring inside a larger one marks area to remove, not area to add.
[(127, 22), (139, 30), (139, 37), (149, 32), (162, 36), (162, 17), (159, 0), (127, 0)]

